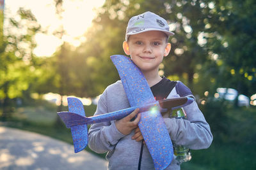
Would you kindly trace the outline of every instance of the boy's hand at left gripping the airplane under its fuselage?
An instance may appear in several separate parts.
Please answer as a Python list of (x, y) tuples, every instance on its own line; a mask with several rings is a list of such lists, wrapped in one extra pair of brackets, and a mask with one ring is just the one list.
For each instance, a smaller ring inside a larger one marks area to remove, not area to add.
[[(140, 110), (137, 108), (136, 110), (134, 110), (127, 117), (124, 117), (120, 120), (116, 120), (115, 124), (116, 124), (117, 130), (119, 132), (121, 132), (122, 134), (124, 134), (124, 135), (130, 134), (133, 129), (138, 127), (138, 123), (140, 122), (140, 113), (139, 113), (139, 111)], [(137, 117), (135, 118), (135, 120), (131, 121), (132, 118), (134, 118), (136, 115), (137, 115)]]

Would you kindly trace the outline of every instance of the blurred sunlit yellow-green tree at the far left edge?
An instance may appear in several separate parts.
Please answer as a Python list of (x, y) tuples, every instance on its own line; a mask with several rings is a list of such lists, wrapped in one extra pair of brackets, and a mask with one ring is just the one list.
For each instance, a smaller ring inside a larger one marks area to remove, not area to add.
[[(0, 31), (0, 99), (3, 118), (10, 116), (11, 99), (21, 97), (22, 92), (29, 88), (36, 60), (33, 55), (36, 46), (34, 36), (40, 31), (40, 25), (31, 11), (20, 8), (17, 13), (19, 17), (10, 18), (10, 26), (4, 31), (6, 33)], [(0, 27), (3, 28), (2, 25)]]

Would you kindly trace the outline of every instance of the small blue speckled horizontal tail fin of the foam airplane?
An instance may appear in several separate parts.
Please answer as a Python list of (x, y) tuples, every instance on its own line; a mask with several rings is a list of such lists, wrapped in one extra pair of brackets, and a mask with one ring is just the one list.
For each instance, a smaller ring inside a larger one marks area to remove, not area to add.
[[(68, 111), (85, 117), (83, 103), (76, 97), (68, 97)], [(76, 125), (70, 129), (72, 133), (75, 153), (80, 152), (88, 144), (87, 125)]]

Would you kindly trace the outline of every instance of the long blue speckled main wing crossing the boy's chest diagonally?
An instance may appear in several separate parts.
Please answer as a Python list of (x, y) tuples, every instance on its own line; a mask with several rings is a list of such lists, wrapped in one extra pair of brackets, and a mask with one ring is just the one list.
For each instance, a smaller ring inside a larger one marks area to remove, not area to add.
[[(131, 107), (156, 102), (140, 69), (129, 57), (111, 56)], [(173, 159), (173, 145), (159, 111), (141, 113), (139, 122), (141, 134), (154, 161), (155, 169), (166, 168)]]

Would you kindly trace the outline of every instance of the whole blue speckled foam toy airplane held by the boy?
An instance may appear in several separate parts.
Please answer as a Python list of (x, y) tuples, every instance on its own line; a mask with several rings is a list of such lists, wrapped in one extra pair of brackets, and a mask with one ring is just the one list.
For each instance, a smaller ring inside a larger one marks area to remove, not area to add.
[(129, 57), (113, 55), (111, 60), (118, 70), (131, 108), (85, 117), (81, 101), (76, 97), (68, 97), (68, 111), (59, 112), (58, 115), (71, 129), (75, 152), (80, 152), (88, 144), (87, 124), (118, 120), (129, 115), (136, 108), (140, 108), (141, 119), (138, 126), (141, 134), (152, 156), (155, 169), (164, 169), (172, 162), (173, 145), (161, 112), (187, 106), (194, 99), (177, 97), (156, 101), (143, 73)]

